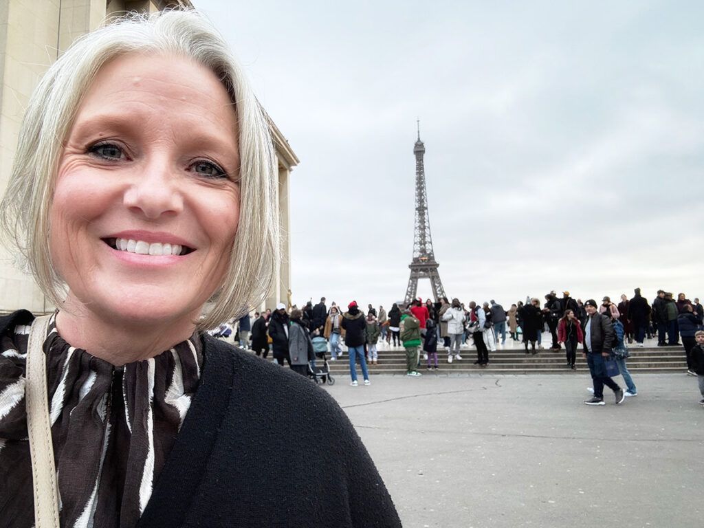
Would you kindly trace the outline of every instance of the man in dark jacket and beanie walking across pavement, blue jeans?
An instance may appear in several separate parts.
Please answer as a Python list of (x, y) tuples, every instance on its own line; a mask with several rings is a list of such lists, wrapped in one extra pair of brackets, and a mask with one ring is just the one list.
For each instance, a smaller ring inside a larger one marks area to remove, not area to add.
[(587, 314), (584, 323), (584, 357), (594, 382), (594, 396), (584, 403), (588, 406), (603, 406), (604, 385), (606, 385), (614, 391), (618, 405), (624, 401), (625, 395), (621, 387), (606, 375), (605, 364), (605, 360), (610, 356), (615, 338), (611, 320), (606, 315), (598, 313), (598, 306), (593, 299), (586, 301), (584, 308)]

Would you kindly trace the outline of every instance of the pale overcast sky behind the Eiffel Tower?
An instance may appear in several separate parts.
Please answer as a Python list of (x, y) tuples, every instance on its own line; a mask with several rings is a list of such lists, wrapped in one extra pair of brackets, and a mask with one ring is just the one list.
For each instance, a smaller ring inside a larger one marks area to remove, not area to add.
[(704, 295), (704, 3), (194, 4), (301, 159), (295, 303), (403, 298), (416, 118), (448, 296)]

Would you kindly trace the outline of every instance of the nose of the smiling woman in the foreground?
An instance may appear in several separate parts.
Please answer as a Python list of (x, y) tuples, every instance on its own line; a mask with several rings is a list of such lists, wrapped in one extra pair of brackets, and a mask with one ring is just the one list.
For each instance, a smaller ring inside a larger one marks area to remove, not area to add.
[(148, 220), (177, 215), (183, 210), (179, 183), (177, 170), (167, 161), (145, 163), (125, 191), (125, 206)]

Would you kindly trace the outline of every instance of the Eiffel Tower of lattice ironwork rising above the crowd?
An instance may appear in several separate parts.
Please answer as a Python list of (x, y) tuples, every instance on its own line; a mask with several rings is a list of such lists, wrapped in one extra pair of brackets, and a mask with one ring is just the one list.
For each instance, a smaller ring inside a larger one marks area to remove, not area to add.
[(433, 253), (433, 241), (430, 237), (430, 220), (428, 219), (428, 197), (425, 191), (425, 167), (423, 156), (425, 145), (420, 141), (420, 121), (418, 122), (418, 139), (413, 146), (415, 154), (415, 232), (413, 233), (413, 260), (410, 261), (410, 278), (406, 288), (405, 302), (413, 301), (418, 291), (418, 279), (430, 279), (435, 301), (445, 296), (440, 275), (439, 264)]

